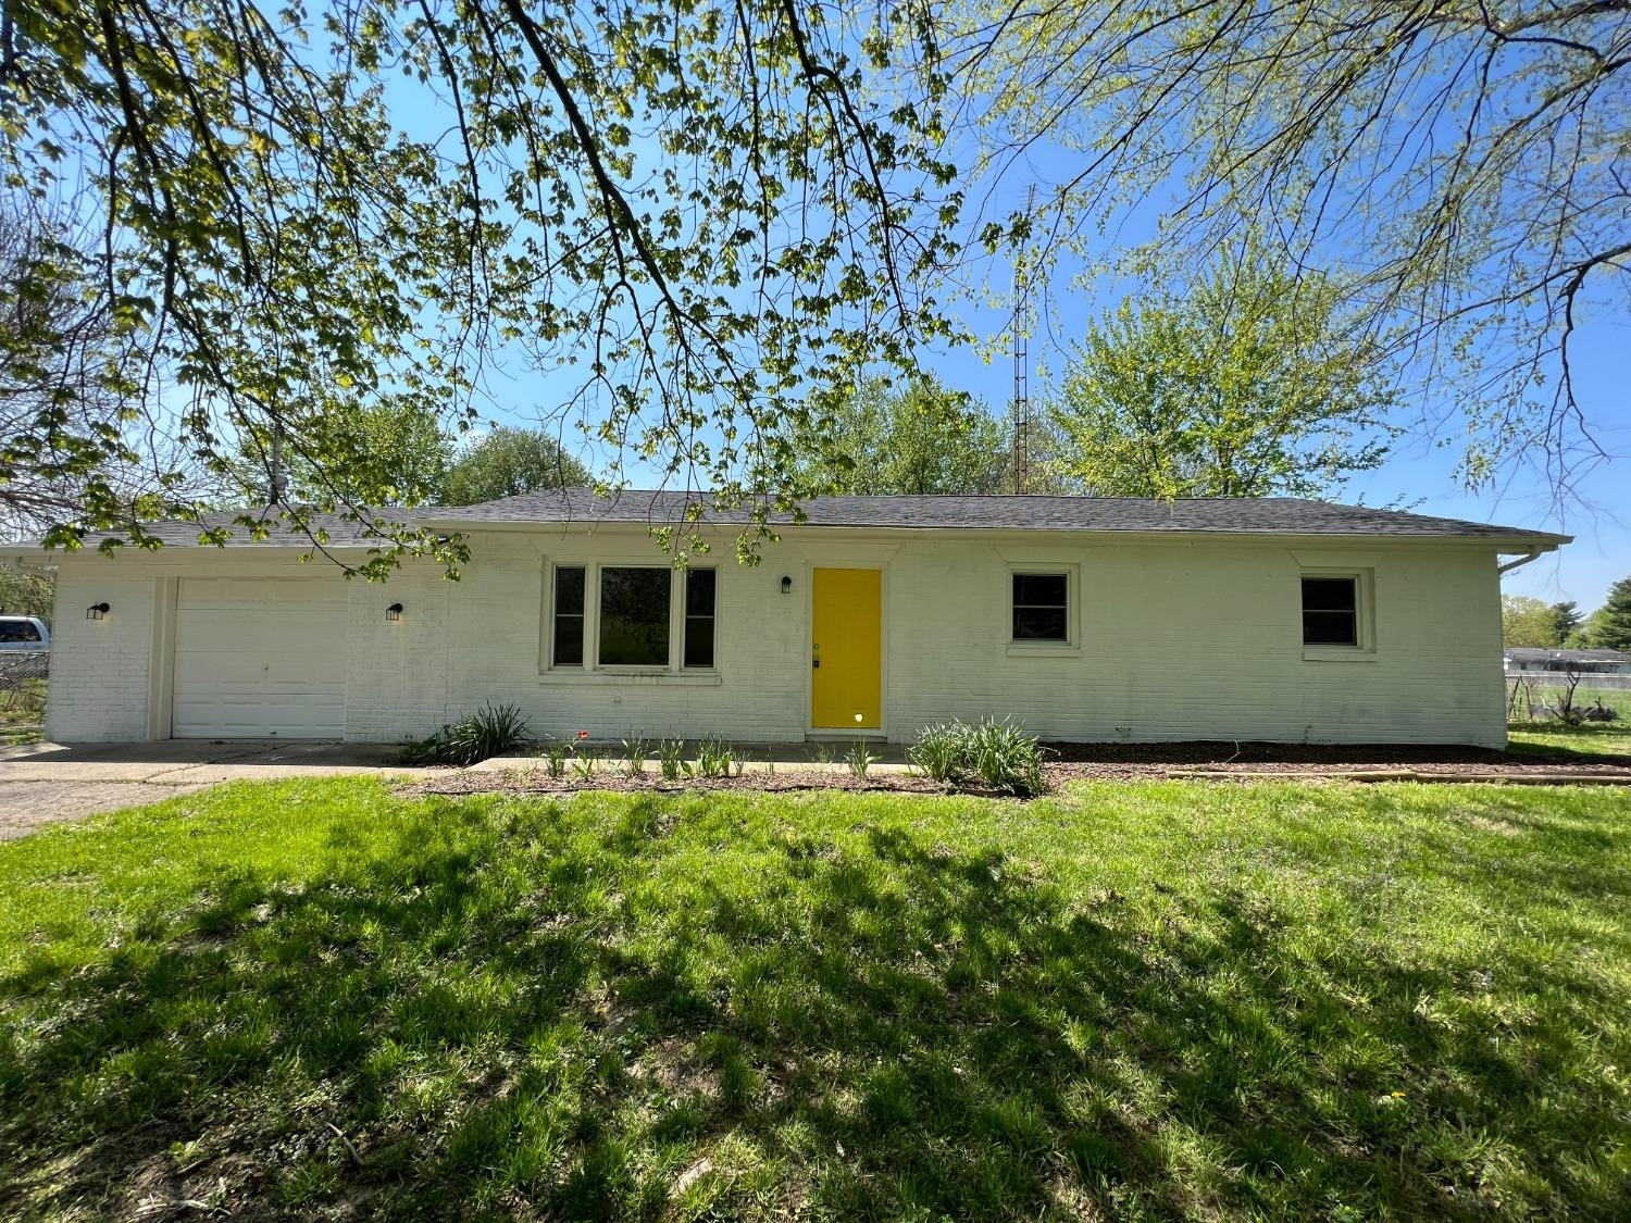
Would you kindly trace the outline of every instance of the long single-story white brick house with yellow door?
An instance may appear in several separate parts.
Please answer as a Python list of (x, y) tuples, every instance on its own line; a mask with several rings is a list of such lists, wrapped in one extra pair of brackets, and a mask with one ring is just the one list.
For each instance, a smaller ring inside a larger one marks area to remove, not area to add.
[(52, 554), (47, 734), (398, 740), (509, 703), (538, 735), (904, 740), (1011, 714), (1060, 740), (1497, 747), (1497, 569), (1567, 541), (1308, 501), (830, 497), (755, 567), (718, 515), (677, 569), (651, 525), (682, 506), (426, 512), (468, 536), (457, 582), (346, 581), (287, 532)]

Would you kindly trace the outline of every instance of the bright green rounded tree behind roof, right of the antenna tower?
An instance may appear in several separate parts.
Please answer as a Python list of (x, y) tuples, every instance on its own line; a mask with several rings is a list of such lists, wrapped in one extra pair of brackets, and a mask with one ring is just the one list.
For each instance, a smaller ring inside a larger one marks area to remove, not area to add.
[(1381, 463), (1390, 404), (1328, 282), (1248, 243), (1187, 297), (1090, 325), (1052, 404), (1055, 461), (1099, 496), (1321, 497)]

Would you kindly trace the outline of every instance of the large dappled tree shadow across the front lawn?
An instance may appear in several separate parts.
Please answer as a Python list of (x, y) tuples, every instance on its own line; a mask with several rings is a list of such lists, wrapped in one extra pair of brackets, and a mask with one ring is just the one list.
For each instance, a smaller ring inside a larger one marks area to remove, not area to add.
[(0, 983), (0, 1212), (1628, 1205), (1623, 1096), (1567, 1081), (1611, 1000), (1566, 965), (1486, 965), (1569, 998), (1514, 1019), (1479, 965), (1310, 962), (1258, 895), (1067, 894), (899, 830), (664, 869), (678, 810), (435, 804), (383, 861), (223, 876)]

